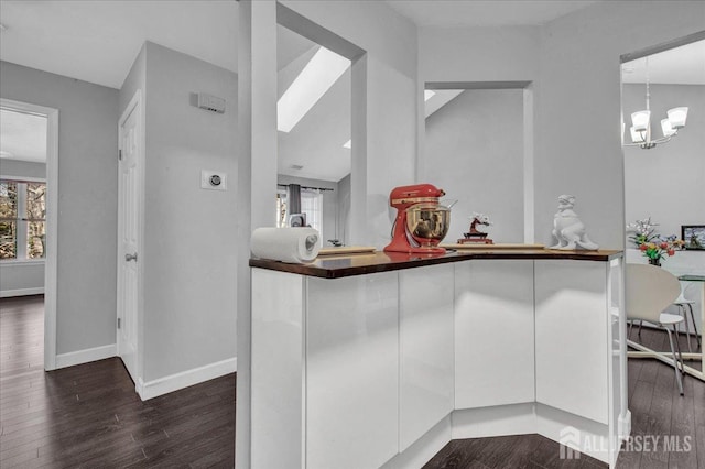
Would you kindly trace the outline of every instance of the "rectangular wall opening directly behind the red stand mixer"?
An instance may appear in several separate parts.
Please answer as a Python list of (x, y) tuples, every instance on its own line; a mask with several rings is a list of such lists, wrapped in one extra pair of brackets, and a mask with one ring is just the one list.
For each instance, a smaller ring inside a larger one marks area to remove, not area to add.
[(417, 179), (433, 181), (453, 205), (447, 239), (459, 242), (480, 214), (495, 242), (532, 244), (532, 84), (435, 81), (423, 91)]

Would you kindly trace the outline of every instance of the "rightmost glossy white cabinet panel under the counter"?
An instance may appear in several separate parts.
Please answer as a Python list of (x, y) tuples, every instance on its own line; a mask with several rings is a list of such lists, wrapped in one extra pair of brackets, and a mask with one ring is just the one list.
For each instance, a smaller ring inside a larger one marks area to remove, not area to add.
[(608, 423), (605, 262), (536, 261), (536, 401)]

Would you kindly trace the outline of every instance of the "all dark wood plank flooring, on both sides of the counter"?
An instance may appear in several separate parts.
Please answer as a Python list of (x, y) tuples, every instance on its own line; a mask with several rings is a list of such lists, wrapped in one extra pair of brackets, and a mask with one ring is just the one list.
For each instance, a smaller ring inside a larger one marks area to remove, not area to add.
[[(43, 306), (41, 296), (0, 299), (0, 468), (232, 467), (234, 374), (141, 402), (119, 359), (45, 373)], [(658, 345), (660, 334), (644, 329), (642, 340)], [(692, 449), (622, 451), (618, 468), (705, 468), (705, 383), (684, 385), (681, 397), (671, 368), (629, 360), (632, 435), (688, 437)], [(539, 435), (453, 440), (425, 466), (603, 467), (562, 460)]]

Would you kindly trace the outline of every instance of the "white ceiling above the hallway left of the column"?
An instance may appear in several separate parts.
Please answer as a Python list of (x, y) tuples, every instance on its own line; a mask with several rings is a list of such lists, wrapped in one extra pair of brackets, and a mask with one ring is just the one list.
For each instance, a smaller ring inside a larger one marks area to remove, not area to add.
[(234, 0), (2, 0), (0, 58), (120, 88), (145, 41), (237, 70)]

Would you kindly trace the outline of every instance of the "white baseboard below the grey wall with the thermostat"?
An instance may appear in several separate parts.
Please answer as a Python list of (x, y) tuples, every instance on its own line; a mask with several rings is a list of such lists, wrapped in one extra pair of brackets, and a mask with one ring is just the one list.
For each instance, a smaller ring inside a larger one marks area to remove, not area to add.
[(140, 399), (148, 401), (170, 392), (203, 383), (204, 381), (235, 373), (237, 369), (238, 359), (230, 358), (152, 381), (145, 382), (142, 378), (138, 378), (134, 388)]

